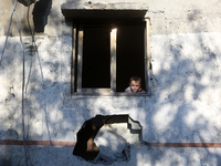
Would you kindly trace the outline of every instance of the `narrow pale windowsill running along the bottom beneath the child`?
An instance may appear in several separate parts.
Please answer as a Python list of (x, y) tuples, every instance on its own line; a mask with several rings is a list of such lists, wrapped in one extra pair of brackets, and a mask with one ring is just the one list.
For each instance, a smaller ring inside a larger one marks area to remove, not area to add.
[(115, 93), (84, 93), (75, 92), (72, 96), (150, 96), (150, 93), (125, 93), (125, 92), (115, 92)]

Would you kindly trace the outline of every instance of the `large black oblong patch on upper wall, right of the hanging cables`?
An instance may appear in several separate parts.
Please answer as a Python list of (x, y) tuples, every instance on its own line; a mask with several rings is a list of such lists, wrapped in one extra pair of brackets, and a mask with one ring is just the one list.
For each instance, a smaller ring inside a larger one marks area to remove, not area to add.
[(44, 28), (48, 24), (48, 17), (50, 14), (51, 9), (52, 0), (40, 0), (34, 4), (32, 14), (35, 32), (44, 32)]

